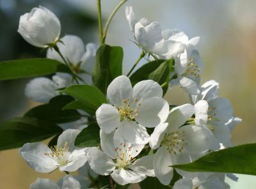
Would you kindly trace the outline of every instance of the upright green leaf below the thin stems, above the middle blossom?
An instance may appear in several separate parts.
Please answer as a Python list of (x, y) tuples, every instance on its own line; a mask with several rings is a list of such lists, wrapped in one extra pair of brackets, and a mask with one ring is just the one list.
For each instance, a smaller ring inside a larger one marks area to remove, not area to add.
[(92, 72), (93, 84), (106, 94), (110, 82), (122, 75), (122, 47), (101, 45), (96, 53), (96, 62)]

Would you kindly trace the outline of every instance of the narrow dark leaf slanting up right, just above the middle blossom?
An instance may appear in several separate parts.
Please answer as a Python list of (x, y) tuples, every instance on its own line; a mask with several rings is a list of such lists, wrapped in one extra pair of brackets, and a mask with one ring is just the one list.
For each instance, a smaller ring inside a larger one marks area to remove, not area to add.
[(132, 73), (130, 77), (132, 84), (136, 84), (141, 80), (147, 80), (148, 75), (154, 72), (163, 62), (164, 60), (151, 61), (141, 66), (136, 72)]

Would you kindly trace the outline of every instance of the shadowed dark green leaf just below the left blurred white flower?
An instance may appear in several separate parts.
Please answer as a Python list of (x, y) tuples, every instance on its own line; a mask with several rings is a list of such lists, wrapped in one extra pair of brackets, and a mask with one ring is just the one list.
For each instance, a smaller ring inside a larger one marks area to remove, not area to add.
[(62, 110), (74, 98), (68, 95), (60, 95), (52, 98), (49, 103), (39, 105), (29, 110), (25, 117), (36, 117), (53, 123), (68, 123), (81, 118), (77, 110)]

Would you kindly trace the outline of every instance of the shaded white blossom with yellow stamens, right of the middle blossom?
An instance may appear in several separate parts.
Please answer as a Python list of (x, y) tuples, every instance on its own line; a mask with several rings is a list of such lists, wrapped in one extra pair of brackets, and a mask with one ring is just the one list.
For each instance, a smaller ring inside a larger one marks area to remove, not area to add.
[[(170, 165), (192, 162), (215, 144), (214, 136), (206, 128), (184, 125), (194, 111), (190, 104), (173, 108), (167, 123), (157, 126), (150, 136), (150, 147), (157, 149), (153, 163), (155, 174), (163, 185), (172, 180), (173, 168)], [(182, 170), (177, 171), (186, 174)]]

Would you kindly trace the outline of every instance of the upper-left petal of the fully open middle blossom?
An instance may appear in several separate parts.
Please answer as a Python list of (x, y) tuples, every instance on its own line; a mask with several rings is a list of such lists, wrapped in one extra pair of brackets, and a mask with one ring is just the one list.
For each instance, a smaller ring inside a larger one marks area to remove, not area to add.
[(123, 104), (123, 100), (131, 100), (132, 84), (129, 77), (121, 75), (116, 77), (108, 86), (107, 96), (116, 107)]

